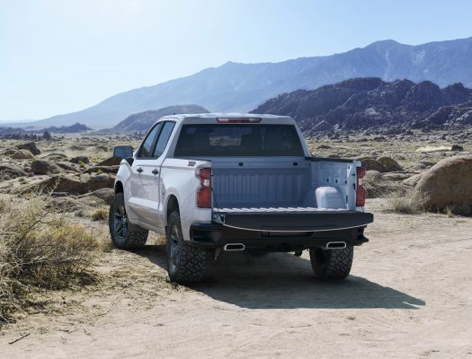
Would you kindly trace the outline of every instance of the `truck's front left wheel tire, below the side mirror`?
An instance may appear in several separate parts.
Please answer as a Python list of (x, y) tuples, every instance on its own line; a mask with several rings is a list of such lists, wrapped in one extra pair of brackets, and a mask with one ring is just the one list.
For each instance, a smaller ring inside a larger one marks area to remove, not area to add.
[[(126, 220), (127, 232), (120, 235), (115, 227), (115, 215), (119, 207), (124, 211), (124, 220)], [(115, 247), (120, 250), (137, 250), (145, 246), (148, 231), (136, 224), (129, 223), (128, 215), (126, 215), (125, 198), (123, 193), (117, 193), (113, 198), (108, 214), (108, 226), (110, 229), (111, 241)]]

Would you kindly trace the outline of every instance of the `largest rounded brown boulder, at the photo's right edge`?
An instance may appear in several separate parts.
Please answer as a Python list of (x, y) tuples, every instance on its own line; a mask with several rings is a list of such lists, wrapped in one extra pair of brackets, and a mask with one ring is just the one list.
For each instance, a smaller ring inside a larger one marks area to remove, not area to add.
[(423, 209), (442, 210), (448, 206), (472, 206), (472, 156), (441, 160), (425, 171), (414, 188), (414, 197)]

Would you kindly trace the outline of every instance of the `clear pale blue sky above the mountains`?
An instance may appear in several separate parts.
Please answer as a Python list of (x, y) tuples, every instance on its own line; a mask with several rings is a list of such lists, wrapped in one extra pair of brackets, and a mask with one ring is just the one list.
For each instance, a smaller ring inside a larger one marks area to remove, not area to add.
[(0, 119), (85, 109), (227, 61), (472, 36), (472, 2), (0, 0)]

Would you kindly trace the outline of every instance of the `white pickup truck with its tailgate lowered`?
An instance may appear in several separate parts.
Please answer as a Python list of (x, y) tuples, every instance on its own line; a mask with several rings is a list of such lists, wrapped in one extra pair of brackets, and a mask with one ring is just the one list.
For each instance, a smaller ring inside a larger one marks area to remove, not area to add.
[(315, 276), (349, 275), (364, 228), (361, 162), (311, 157), (292, 118), (253, 114), (160, 118), (123, 159), (111, 240), (136, 249), (165, 234), (171, 281), (195, 282), (222, 250), (309, 250)]

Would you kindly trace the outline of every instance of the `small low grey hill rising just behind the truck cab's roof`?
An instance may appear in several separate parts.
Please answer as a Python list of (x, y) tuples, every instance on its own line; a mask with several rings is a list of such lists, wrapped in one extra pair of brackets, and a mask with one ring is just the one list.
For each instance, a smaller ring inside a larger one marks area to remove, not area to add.
[(174, 113), (208, 113), (208, 109), (204, 109), (198, 105), (179, 105), (169, 106), (164, 109), (150, 109), (148, 111), (135, 113), (128, 118), (123, 119), (118, 125), (104, 130), (105, 132), (131, 132), (131, 131), (147, 131), (157, 119), (163, 116), (173, 115)]

